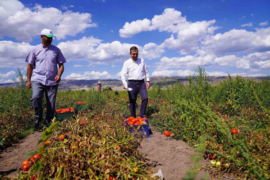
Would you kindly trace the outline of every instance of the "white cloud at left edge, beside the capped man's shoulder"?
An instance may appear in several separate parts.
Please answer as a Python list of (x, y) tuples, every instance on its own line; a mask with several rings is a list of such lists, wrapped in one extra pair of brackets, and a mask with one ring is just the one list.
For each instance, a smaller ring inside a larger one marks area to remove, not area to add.
[(29, 43), (0, 41), (0, 68), (26, 67), (25, 58), (32, 47)]

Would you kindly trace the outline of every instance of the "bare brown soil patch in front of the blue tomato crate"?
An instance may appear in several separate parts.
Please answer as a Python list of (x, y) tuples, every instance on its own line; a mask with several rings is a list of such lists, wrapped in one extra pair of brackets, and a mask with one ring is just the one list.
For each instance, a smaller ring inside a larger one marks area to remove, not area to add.
[[(154, 167), (157, 173), (161, 169), (165, 180), (177, 180), (186, 176), (185, 171), (193, 168), (194, 161), (191, 155), (198, 155), (198, 152), (184, 141), (171, 139), (151, 128), (153, 134), (149, 138), (143, 139), (141, 147), (138, 149), (143, 153), (145, 162)], [(200, 161), (201, 170), (197, 173), (196, 179), (202, 179), (204, 174), (208, 179), (236, 179), (228, 174), (220, 175), (204, 168), (210, 165), (210, 161), (202, 159)]]

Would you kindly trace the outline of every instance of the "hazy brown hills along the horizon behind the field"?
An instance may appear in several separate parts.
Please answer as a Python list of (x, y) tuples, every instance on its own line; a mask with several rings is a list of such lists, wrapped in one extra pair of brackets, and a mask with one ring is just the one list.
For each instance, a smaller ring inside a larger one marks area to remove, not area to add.
[[(231, 76), (232, 78), (235, 78), (236, 76)], [(171, 82), (175, 83), (182, 82), (184, 84), (188, 83), (188, 77), (162, 77), (162, 76), (154, 76), (151, 77), (151, 84), (153, 83), (159, 83), (161, 81), (164, 81), (166, 78), (167, 84), (171, 84)], [(259, 82), (261, 80), (270, 80), (270, 76), (261, 76), (261, 77), (244, 77), (245, 79), (253, 79), (253, 81)], [(216, 85), (218, 82), (222, 82), (224, 80), (227, 80), (228, 76), (211, 76), (209, 77), (209, 82), (212, 85)], [(124, 90), (122, 88), (122, 81), (118, 79), (94, 79), (94, 80), (75, 80), (75, 79), (63, 79), (59, 83), (59, 90), (68, 90), (68, 89), (88, 89), (88, 86), (93, 86), (94, 88), (97, 87), (98, 82), (101, 82), (102, 88), (105, 88), (106, 86), (110, 86), (113, 88), (113, 90), (121, 91)], [(62, 87), (63, 85), (63, 87)], [(0, 88), (7, 88), (12, 87), (16, 88), (15, 83), (4, 83), (0, 84)]]

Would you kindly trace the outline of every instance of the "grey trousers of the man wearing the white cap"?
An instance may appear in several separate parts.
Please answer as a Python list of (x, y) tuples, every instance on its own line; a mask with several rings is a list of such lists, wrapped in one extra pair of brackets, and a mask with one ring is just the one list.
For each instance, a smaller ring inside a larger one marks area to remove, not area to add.
[(43, 85), (38, 81), (32, 82), (33, 94), (30, 101), (35, 109), (35, 117), (37, 119), (42, 119), (43, 116), (42, 98), (44, 96), (44, 92), (46, 96), (46, 120), (53, 119), (57, 89), (58, 84)]

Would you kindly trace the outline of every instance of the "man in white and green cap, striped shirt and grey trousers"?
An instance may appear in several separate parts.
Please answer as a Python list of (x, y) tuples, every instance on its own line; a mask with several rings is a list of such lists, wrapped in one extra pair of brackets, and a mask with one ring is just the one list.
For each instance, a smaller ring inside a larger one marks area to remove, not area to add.
[[(61, 80), (61, 75), (64, 72), (63, 63), (66, 62), (61, 50), (51, 45), (52, 31), (43, 29), (40, 35), (42, 43), (34, 46), (26, 56), (27, 66), (27, 88), (32, 85), (32, 98), (30, 102), (35, 110), (35, 120), (32, 125), (37, 128), (43, 119), (42, 98), (46, 96), (46, 117), (44, 127), (54, 117), (55, 99), (58, 89), (58, 82)], [(57, 68), (59, 66), (59, 70)]]

